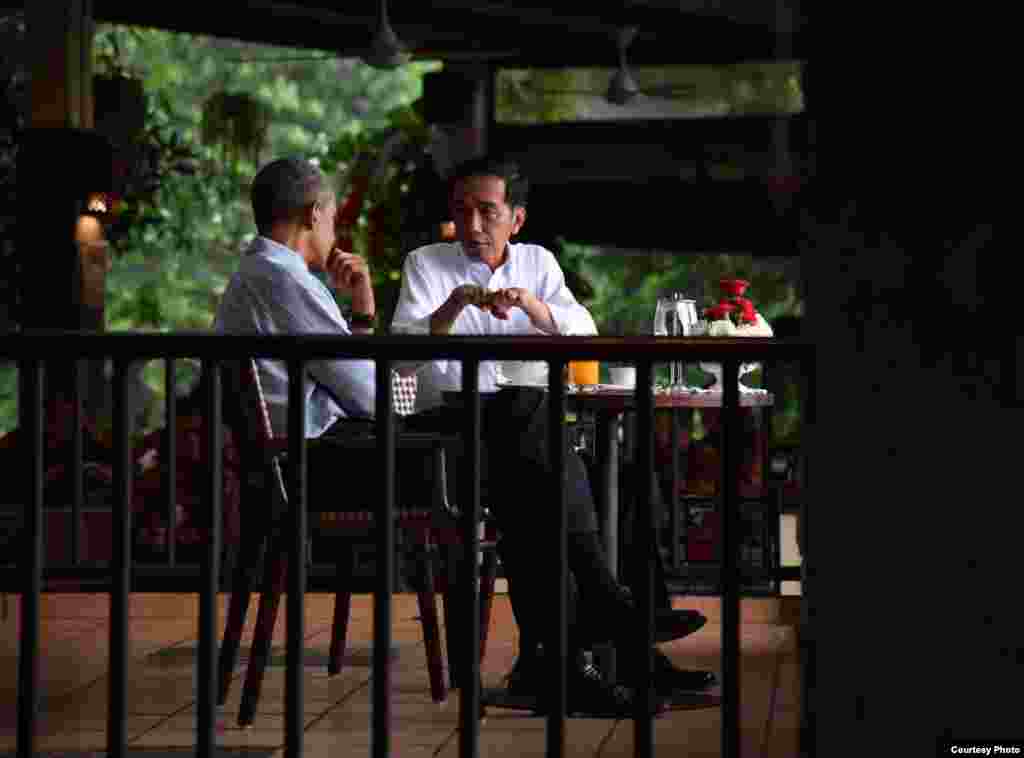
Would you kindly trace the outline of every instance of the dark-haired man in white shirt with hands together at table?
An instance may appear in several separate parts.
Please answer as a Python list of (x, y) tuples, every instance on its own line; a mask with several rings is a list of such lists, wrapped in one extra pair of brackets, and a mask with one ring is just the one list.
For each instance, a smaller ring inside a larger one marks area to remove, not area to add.
[[(510, 241), (526, 218), (528, 182), (518, 167), (501, 159), (475, 159), (458, 167), (450, 182), (458, 242), (428, 245), (409, 254), (392, 329), (432, 335), (597, 334), (593, 318), (566, 287), (554, 255), (539, 245)], [(524, 365), (517, 372), (518, 379), (543, 381), (544, 370), (544, 364)], [(537, 693), (542, 666), (530, 644), (540, 642), (548, 631), (551, 608), (544, 606), (544, 598), (549, 594), (546, 586), (553, 571), (552, 556), (538, 542), (538, 535), (550, 534), (547, 527), (552, 515), (551, 509), (543, 507), (543, 498), (537, 502), (538, 494), (546, 492), (542, 488), (549, 475), (547, 410), (541, 390), (496, 391), (501, 378), (498, 364), (481, 364), (487, 504), (502, 530), (502, 560), (523, 638), (510, 690)], [(445, 413), (440, 406), (442, 392), (462, 388), (460, 364), (425, 364), (419, 367), (417, 379), (417, 409), (427, 411), (420, 417), (433, 416), (440, 425), (447, 423), (457, 431), (459, 414)], [(574, 580), (574, 616), (579, 617), (578, 622), (570, 621), (570, 656), (579, 651), (573, 646), (583, 648), (602, 639), (616, 639), (621, 648), (635, 650), (625, 641), (628, 623), (608, 620), (633, 619), (634, 607), (629, 592), (607, 568), (586, 469), (573, 452), (566, 457), (566, 469), (568, 562)], [(513, 586), (518, 591), (511, 590)], [(658, 638), (683, 636), (703, 621), (695, 612), (666, 609), (658, 614)], [(590, 629), (585, 628), (588, 624)], [(655, 660), (664, 670), (663, 690), (677, 688), (680, 679), (686, 680), (689, 688), (710, 683), (702, 678), (703, 672), (680, 672), (660, 654)], [(570, 669), (570, 710), (575, 700), (581, 710), (606, 710), (611, 715), (615, 710), (612, 701), (618, 696), (614, 689), (602, 694), (588, 686), (587, 679), (595, 672), (593, 667)], [(573, 698), (573, 685), (579, 687), (578, 698)]]

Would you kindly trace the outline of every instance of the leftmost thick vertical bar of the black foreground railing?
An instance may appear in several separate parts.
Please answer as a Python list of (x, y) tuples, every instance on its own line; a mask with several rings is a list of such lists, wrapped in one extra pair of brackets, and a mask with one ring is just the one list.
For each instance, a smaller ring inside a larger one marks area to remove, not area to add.
[(43, 380), (39, 360), (18, 364), (18, 425), (26, 431), (24, 582), (17, 656), (17, 756), (35, 753), (39, 711), (39, 607), (43, 589)]

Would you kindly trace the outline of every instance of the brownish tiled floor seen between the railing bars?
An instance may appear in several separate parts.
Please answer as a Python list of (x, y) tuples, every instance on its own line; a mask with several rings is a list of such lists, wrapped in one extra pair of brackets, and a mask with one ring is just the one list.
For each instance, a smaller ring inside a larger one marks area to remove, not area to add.
[[(17, 603), (11, 598), (0, 638), (0, 751), (15, 744)], [(796, 756), (799, 720), (799, 661), (792, 608), (797, 598), (743, 603), (741, 747), (744, 756)], [(698, 598), (710, 623), (664, 649), (677, 665), (721, 668), (718, 604)], [(330, 639), (333, 602), (310, 595), (306, 603), (305, 751), (310, 756), (365, 756), (371, 746), (372, 607), (369, 596), (353, 602), (349, 649), (353, 661), (328, 678), (322, 665)], [(188, 748), (195, 744), (196, 600), (187, 595), (134, 595), (131, 604), (132, 659), (129, 669), (128, 734), (132, 746)], [(42, 708), (38, 749), (102, 750), (106, 728), (108, 600), (95, 595), (46, 595), (42, 615)], [(252, 617), (255, 614), (251, 614)], [(391, 734), (392, 754), (456, 758), (459, 753), (459, 703), (453, 693), (443, 705), (430, 701), (415, 598), (394, 599)], [(218, 626), (220, 626), (218, 624)], [(275, 645), (284, 645), (279, 623)], [(484, 685), (501, 682), (515, 656), (516, 633), (508, 602), (496, 598), (490, 643), (483, 665)], [(240, 665), (239, 674), (244, 671)], [(280, 748), (284, 742), (285, 676), (281, 665), (267, 669), (256, 723), (236, 725), (241, 681), (218, 713), (218, 743)], [(714, 694), (714, 693), (713, 693)], [(657, 755), (720, 754), (721, 711), (715, 699), (696, 708), (675, 710), (654, 722)], [(573, 718), (567, 722), (566, 756), (630, 756), (632, 721)], [(541, 756), (545, 720), (520, 711), (489, 709), (480, 726), (481, 756)], [(280, 753), (280, 751), (279, 751)]]

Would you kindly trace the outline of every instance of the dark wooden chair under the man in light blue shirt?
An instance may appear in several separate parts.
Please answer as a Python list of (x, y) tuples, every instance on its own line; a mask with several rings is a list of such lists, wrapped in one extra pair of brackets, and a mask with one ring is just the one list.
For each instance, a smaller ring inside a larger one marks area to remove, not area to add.
[[(225, 374), (228, 380), (227, 386), (232, 390), (237, 389), (233, 396), (238, 398), (240, 408), (234, 418), (229, 417), (228, 420), (233, 426), (241, 427), (238, 429), (238, 435), (241, 440), (243, 469), (247, 481), (244, 482), (243, 491), (242, 544), (231, 582), (231, 595), (218, 667), (218, 703), (221, 705), (226, 701), (230, 688), (252, 585), (258, 573), (260, 555), (264, 553), (259, 612), (239, 712), (239, 723), (245, 726), (251, 724), (256, 715), (263, 674), (270, 654), (278, 606), (285, 589), (289, 540), (287, 530), (282, 529), (280, 524), (288, 510), (288, 491), (283, 474), (288, 445), (285, 437), (273, 434), (256, 362), (253, 360), (243, 362), (237, 370), (227, 371)], [(225, 393), (225, 396), (228, 395)], [(344, 445), (346, 449), (352, 449), (354, 446), (372, 450), (376, 445), (372, 434), (338, 443), (324, 441), (337, 444), (339, 447)], [(398, 450), (430, 451), (433, 464), (432, 502), (429, 507), (397, 507), (395, 527), (417, 547), (419, 568), (417, 599), (423, 625), (430, 692), (435, 703), (446, 699), (447, 687), (444, 679), (432, 563), (438, 543), (449, 542), (452, 535), (457, 534), (458, 517), (456, 509), (449, 503), (446, 497), (444, 441), (436, 434), (401, 432), (396, 435)], [(354, 554), (351, 548), (356, 541), (372, 538), (374, 513), (369, 510), (318, 511), (311, 512), (309, 520), (311, 529), (323, 535), (343, 538), (347, 547), (339, 552), (337, 560), (337, 589), (328, 663), (328, 673), (335, 675), (341, 671), (347, 641), (354, 567)], [(493, 542), (482, 542), (481, 549), (483, 549), (480, 582), (482, 656), (490, 620), (496, 559)], [(449, 616), (449, 606), (450, 599), (445, 592), (445, 617)], [(449, 635), (449, 639), (451, 642), (452, 635)], [(450, 656), (451, 649), (450, 646)]]

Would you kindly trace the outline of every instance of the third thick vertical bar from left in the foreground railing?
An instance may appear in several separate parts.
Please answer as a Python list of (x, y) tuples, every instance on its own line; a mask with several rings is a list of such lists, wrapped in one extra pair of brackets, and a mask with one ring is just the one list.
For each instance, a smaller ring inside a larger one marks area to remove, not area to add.
[(221, 497), (223, 481), (223, 418), (221, 417), (220, 364), (207, 362), (208, 394), (206, 396), (206, 450), (209, 461), (207, 481), (210, 498), (210, 527), (207, 550), (203, 561), (203, 577), (199, 607), (199, 677), (197, 686), (196, 743), (199, 758), (212, 758), (215, 751), (216, 726), (216, 639), (217, 590), (220, 586)]

